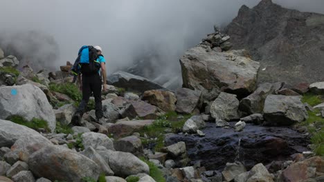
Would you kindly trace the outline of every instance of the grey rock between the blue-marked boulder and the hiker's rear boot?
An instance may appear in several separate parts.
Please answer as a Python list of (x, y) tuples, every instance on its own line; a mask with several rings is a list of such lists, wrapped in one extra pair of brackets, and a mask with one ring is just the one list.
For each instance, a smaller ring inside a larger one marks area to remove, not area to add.
[(60, 121), (62, 125), (69, 125), (76, 108), (73, 103), (63, 105), (62, 107), (55, 110), (55, 117), (57, 121)]

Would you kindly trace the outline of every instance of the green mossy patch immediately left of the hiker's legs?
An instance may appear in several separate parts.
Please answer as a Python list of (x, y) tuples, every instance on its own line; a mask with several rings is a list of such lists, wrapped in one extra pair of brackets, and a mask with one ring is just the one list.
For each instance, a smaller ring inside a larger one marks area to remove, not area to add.
[(78, 86), (73, 83), (63, 83), (63, 84), (50, 83), (48, 88), (51, 91), (66, 94), (71, 99), (73, 99), (73, 101), (80, 102), (82, 99), (82, 93), (80, 92)]

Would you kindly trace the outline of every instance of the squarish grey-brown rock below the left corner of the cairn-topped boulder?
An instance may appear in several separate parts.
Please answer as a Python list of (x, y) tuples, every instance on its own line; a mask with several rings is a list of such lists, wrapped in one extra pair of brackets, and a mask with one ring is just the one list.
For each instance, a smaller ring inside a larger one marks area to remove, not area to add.
[(188, 88), (179, 88), (176, 92), (176, 111), (183, 114), (192, 114), (195, 109), (201, 107), (201, 92)]

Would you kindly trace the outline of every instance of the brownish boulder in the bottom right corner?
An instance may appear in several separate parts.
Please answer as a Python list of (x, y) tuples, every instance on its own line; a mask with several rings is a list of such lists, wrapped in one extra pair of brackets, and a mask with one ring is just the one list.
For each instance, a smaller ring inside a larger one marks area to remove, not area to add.
[(321, 156), (314, 156), (305, 161), (291, 164), (287, 169), (283, 170), (281, 181), (306, 181), (315, 178), (315, 174), (324, 173), (324, 159)]

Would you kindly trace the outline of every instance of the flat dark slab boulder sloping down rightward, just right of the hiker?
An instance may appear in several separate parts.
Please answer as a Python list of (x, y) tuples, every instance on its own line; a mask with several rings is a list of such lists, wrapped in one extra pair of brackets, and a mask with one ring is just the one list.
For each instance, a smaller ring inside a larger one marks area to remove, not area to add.
[(116, 87), (137, 92), (145, 92), (146, 90), (157, 89), (167, 90), (166, 88), (163, 88), (163, 86), (154, 83), (153, 81), (122, 71), (111, 74), (107, 81), (109, 85), (114, 85)]

